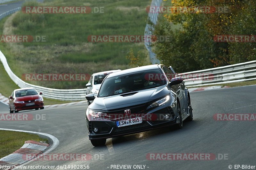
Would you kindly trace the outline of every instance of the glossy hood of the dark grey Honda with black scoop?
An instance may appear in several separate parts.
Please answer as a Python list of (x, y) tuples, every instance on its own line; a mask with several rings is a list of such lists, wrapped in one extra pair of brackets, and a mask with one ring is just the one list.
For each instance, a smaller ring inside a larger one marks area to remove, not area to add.
[(89, 108), (97, 110), (109, 110), (120, 107), (139, 105), (142, 103), (149, 102), (151, 100), (155, 100), (157, 98), (161, 98), (169, 93), (170, 90), (168, 90), (168, 86), (163, 85), (156, 88), (150, 88), (141, 91), (129, 92), (108, 97), (96, 97), (93, 103), (89, 106)]

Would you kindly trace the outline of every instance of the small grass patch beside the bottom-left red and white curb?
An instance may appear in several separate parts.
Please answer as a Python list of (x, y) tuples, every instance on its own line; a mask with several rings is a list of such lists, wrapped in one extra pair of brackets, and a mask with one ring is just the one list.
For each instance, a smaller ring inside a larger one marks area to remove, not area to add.
[(48, 139), (41, 138), (35, 134), (0, 130), (0, 158), (17, 151), (28, 140), (48, 143)]

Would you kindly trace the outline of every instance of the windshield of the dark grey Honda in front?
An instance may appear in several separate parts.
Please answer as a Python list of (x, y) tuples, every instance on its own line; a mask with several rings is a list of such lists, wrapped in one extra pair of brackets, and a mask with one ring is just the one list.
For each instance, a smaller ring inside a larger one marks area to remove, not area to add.
[[(151, 75), (154, 75), (155, 78), (149, 78), (152, 77)], [(161, 75), (163, 75), (161, 69), (153, 69), (107, 78), (101, 85), (98, 97), (107, 97), (165, 85), (166, 80)]]

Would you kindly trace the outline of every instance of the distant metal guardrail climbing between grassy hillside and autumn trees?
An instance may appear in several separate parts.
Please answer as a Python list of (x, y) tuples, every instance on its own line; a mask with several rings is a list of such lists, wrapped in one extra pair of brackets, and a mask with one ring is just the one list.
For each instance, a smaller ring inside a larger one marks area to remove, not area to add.
[[(151, 2), (151, 6), (161, 6), (163, 0), (152, 0)], [(158, 15), (159, 13), (148, 13), (148, 18), (151, 20), (151, 22), (153, 24), (156, 25), (157, 23), (157, 19), (158, 19)], [(150, 30), (154, 30), (154, 28), (152, 26), (150, 26), (149, 24), (146, 25), (145, 27), (145, 32), (144, 35), (152, 35), (152, 31)], [(158, 59), (156, 59), (156, 54), (152, 52), (151, 47), (150, 47), (150, 42), (145, 42), (145, 47), (147, 48), (148, 52), (149, 52), (149, 58), (152, 64), (160, 64), (160, 61)]]

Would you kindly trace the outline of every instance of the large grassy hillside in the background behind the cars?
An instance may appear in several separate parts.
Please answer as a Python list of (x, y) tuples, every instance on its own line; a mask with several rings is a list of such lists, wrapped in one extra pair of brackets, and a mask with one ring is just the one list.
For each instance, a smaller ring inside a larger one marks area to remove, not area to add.
[[(12, 71), (26, 73), (92, 74), (105, 70), (128, 69), (126, 55), (145, 51), (144, 43), (92, 43), (89, 35), (143, 35), (149, 0), (56, 0), (27, 6), (104, 7), (104, 13), (26, 14), (21, 11), (0, 21), (0, 34), (40, 35), (46, 42), (0, 43)], [(4, 31), (4, 28), (5, 31)], [(12, 28), (12, 29), (10, 29)], [(12, 32), (10, 31), (12, 30)], [(87, 82), (30, 81), (28, 83), (59, 89), (84, 88)]]

